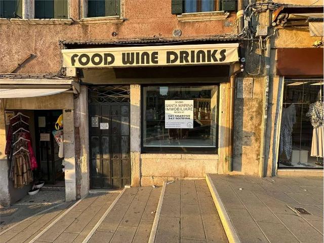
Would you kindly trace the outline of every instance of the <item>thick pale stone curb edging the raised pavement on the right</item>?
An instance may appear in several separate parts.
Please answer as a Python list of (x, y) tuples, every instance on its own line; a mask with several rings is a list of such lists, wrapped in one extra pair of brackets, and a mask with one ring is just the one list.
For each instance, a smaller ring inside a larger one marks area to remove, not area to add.
[(228, 242), (229, 243), (240, 243), (241, 241), (238, 238), (238, 235), (235, 231), (232, 221), (229, 218), (229, 215), (225, 209), (225, 206), (224, 206), (209, 174), (206, 175), (206, 182), (207, 182), (208, 188), (212, 194), (219, 218), (221, 219), (226, 236), (228, 238)]

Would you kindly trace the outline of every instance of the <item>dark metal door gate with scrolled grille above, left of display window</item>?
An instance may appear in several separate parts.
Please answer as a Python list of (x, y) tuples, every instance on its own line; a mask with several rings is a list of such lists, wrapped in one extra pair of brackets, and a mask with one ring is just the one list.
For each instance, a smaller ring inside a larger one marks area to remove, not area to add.
[(91, 188), (131, 184), (130, 86), (89, 88)]

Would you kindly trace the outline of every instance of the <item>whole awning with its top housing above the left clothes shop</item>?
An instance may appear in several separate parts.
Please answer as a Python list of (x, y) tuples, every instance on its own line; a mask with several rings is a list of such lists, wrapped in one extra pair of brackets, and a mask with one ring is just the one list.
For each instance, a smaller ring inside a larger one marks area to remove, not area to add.
[(1, 75), (0, 98), (22, 98), (46, 96), (66, 92), (78, 93), (79, 84), (66, 78), (24, 77), (19, 75)]

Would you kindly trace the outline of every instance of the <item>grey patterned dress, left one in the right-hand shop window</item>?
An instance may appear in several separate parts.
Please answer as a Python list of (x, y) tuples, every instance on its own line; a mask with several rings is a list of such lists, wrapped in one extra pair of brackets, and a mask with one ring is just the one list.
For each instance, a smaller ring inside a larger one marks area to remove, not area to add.
[(292, 131), (295, 122), (296, 122), (295, 105), (292, 104), (288, 108), (282, 108), (279, 154), (286, 155), (287, 160), (289, 160), (292, 155), (292, 147), (293, 147)]

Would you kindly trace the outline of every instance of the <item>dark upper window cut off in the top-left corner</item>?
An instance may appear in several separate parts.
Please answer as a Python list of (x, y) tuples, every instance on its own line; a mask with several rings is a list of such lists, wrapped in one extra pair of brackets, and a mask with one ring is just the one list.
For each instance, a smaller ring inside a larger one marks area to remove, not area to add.
[(22, 0), (0, 0), (0, 18), (22, 18)]

